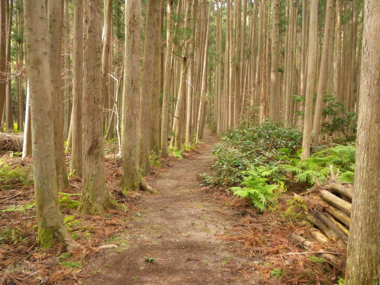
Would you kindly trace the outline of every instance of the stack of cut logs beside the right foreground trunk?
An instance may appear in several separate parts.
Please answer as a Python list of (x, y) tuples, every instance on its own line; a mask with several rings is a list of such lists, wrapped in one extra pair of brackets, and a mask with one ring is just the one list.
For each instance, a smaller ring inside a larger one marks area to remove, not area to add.
[[(342, 255), (323, 253), (332, 247), (339, 248), (338, 253), (344, 252), (350, 234), (353, 186), (337, 182), (338, 176), (339, 171), (334, 174), (331, 169), (331, 180), (313, 190), (311, 196), (305, 197), (308, 204), (305, 218), (312, 225), (308, 234), (319, 244), (325, 245), (324, 250), (318, 252), (331, 264), (340, 267), (344, 262)], [(297, 234), (291, 237), (301, 242), (304, 249), (312, 250), (312, 242), (304, 237)]]

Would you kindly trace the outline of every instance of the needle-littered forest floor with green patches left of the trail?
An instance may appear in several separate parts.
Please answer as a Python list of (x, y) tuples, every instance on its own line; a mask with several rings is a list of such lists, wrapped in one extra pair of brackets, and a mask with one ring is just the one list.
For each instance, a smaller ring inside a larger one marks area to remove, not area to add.
[(59, 193), (59, 204), (65, 225), (81, 247), (72, 253), (65, 252), (60, 245), (42, 250), (36, 244), (31, 162), (4, 157), (0, 166), (0, 285), (84, 283), (90, 272), (85, 273), (82, 265), (100, 253), (101, 245), (128, 244), (122, 233), (138, 212), (139, 197), (147, 193), (121, 194), (117, 183), (122, 174), (122, 161), (106, 159), (107, 187), (119, 210), (105, 217), (78, 215), (76, 207), (82, 184), (80, 178), (71, 177), (70, 189)]

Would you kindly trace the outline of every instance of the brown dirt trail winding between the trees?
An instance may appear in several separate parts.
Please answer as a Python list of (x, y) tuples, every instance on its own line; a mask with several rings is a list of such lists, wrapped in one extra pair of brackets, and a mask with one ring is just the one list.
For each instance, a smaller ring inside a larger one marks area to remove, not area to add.
[(93, 273), (87, 284), (258, 284), (255, 277), (246, 279), (238, 272), (247, 259), (229, 249), (241, 245), (218, 238), (236, 220), (199, 188), (197, 174), (207, 171), (215, 143), (206, 129), (204, 142), (196, 158), (174, 162), (150, 182), (160, 195), (140, 200), (141, 216), (128, 224), (126, 245), (93, 260), (86, 268)]

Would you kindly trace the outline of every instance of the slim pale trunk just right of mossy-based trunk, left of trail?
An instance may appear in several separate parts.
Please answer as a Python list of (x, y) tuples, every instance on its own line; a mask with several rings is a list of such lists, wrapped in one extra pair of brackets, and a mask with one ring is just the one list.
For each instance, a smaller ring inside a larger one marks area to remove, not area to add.
[(166, 55), (165, 55), (165, 76), (162, 99), (162, 119), (161, 119), (161, 155), (168, 157), (168, 116), (169, 116), (169, 93), (171, 85), (171, 60), (173, 48), (173, 0), (168, 1), (166, 11)]

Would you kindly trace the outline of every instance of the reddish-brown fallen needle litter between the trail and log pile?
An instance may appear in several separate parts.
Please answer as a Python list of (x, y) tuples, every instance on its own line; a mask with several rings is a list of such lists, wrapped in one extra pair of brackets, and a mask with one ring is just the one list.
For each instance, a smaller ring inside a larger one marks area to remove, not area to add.
[[(299, 242), (291, 239), (291, 233), (310, 237), (309, 225), (299, 219), (305, 206), (301, 199), (283, 195), (275, 207), (264, 213), (257, 212), (247, 199), (231, 199), (230, 192), (205, 188), (216, 203), (237, 212), (235, 230), (220, 236), (226, 241), (236, 241), (240, 247), (231, 249), (247, 258), (242, 272), (259, 271), (265, 284), (276, 285), (334, 285), (342, 274), (344, 264), (329, 264), (319, 255), (306, 253)], [(312, 239), (310, 237), (310, 239)], [(325, 249), (342, 252), (342, 248), (331, 243), (314, 243), (313, 250)], [(295, 254), (294, 254), (295, 253)], [(299, 253), (299, 254), (298, 254)]]

